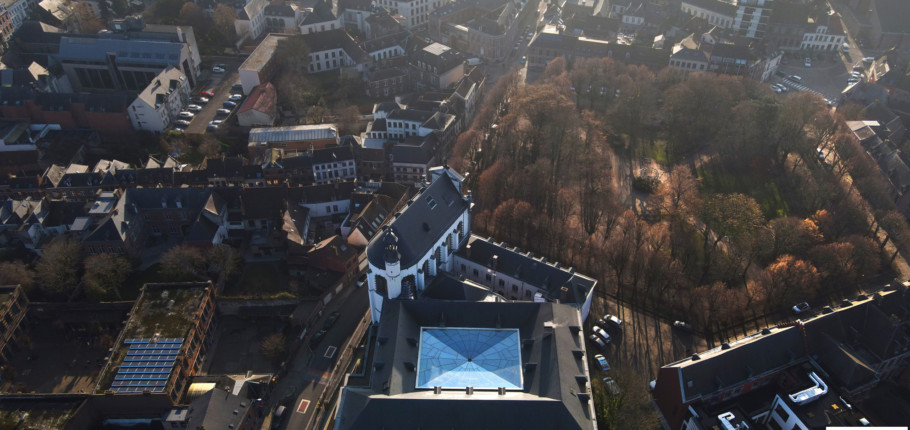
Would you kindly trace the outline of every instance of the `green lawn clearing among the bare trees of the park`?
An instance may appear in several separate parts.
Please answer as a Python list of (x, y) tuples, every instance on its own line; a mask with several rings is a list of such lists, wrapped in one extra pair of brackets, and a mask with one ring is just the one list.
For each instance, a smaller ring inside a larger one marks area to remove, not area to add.
[(742, 193), (752, 196), (761, 206), (762, 214), (766, 219), (780, 218), (790, 214), (790, 205), (775, 180), (778, 176), (757, 180), (748, 172), (729, 172), (716, 163), (703, 164), (697, 169), (696, 174), (704, 192)]

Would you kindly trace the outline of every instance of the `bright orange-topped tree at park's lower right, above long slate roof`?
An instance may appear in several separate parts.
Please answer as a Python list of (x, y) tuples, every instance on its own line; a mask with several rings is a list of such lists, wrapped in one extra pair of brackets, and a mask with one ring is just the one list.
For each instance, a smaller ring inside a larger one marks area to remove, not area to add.
[(766, 310), (773, 312), (796, 301), (811, 299), (818, 290), (818, 269), (805, 260), (782, 255), (757, 280), (764, 290)]

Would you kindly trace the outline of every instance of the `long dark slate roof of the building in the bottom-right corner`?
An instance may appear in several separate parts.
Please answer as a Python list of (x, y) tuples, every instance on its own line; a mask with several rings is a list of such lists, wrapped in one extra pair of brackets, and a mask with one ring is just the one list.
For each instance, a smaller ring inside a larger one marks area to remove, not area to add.
[[(769, 372), (799, 364), (810, 356), (828, 374), (847, 388), (856, 388), (874, 377), (873, 368), (882, 360), (906, 350), (904, 323), (910, 318), (910, 295), (890, 292), (876, 303), (869, 299), (822, 314), (799, 325), (774, 328), (666, 365), (658, 378), (661, 391), (667, 384), (678, 386), (682, 403), (707, 398)], [(889, 309), (887, 313), (884, 309)], [(893, 315), (893, 317), (892, 317)], [(895, 319), (896, 318), (896, 319)], [(666, 373), (671, 370), (671, 373)]]

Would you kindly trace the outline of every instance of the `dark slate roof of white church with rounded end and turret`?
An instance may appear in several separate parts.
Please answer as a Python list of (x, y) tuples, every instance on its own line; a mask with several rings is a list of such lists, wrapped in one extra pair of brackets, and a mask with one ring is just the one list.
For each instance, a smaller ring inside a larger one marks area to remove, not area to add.
[(438, 178), (411, 199), (389, 229), (370, 241), (367, 247), (370, 264), (385, 268), (383, 239), (390, 231), (398, 237), (401, 267), (417, 264), (469, 205), (469, 199), (461, 195), (447, 176)]

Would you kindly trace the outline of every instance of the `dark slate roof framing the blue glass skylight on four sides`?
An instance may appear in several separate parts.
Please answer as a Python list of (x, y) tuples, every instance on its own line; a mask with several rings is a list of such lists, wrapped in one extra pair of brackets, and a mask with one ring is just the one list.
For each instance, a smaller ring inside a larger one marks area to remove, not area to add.
[[(417, 390), (421, 327), (514, 328), (521, 350), (523, 391), (466, 395)], [(371, 383), (347, 386), (338, 430), (361, 428), (593, 429), (593, 403), (580, 400), (588, 380), (578, 310), (554, 303), (392, 300), (383, 305)], [(580, 354), (576, 355), (576, 351)]]

